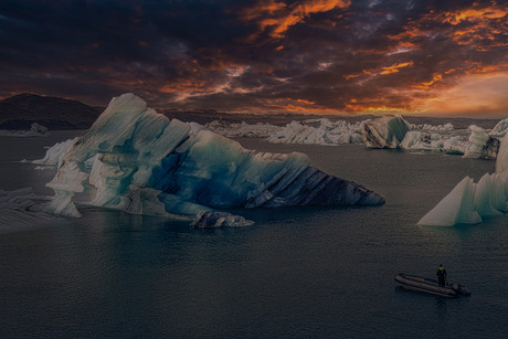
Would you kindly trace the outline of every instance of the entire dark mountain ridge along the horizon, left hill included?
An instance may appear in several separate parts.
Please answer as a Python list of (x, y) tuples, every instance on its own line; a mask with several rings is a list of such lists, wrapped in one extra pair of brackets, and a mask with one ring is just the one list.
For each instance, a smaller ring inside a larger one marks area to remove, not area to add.
[[(0, 129), (30, 130), (33, 123), (55, 129), (87, 129), (103, 113), (104, 107), (94, 107), (77, 100), (65, 99), (53, 96), (41, 96), (33, 93), (22, 93), (0, 100)], [(290, 121), (306, 119), (328, 118), (330, 120), (346, 120), (349, 123), (375, 119), (373, 115), (341, 115), (341, 116), (318, 116), (298, 113), (274, 113), (274, 114), (241, 114), (224, 113), (215, 109), (174, 109), (159, 108), (158, 113), (170, 119), (177, 118), (184, 123), (207, 124), (222, 119), (227, 123), (257, 124), (267, 123), (285, 126)], [(403, 116), (412, 124), (440, 125), (452, 123), (455, 128), (467, 128), (469, 125), (477, 125), (483, 128), (493, 128), (498, 119), (487, 118), (449, 118), (449, 117), (419, 117)]]

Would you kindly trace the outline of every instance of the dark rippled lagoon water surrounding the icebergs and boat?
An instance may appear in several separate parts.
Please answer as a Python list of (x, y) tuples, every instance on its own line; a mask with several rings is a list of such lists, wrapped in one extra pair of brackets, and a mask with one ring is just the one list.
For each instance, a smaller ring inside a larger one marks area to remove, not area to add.
[[(2, 153), (11, 149), (6, 140)], [(15, 142), (20, 159), (44, 153), (33, 138)], [(306, 152), (313, 165), (383, 194), (387, 204), (235, 211), (256, 224), (205, 231), (82, 208), (82, 219), (0, 234), (1, 337), (508, 336), (508, 218), (416, 226), (462, 178), (478, 180), (494, 161), (241, 142)], [(46, 193), (43, 180), (52, 173), (33, 174), (15, 157), (0, 157), (0, 188)], [(395, 286), (395, 274), (431, 277), (441, 263), (470, 297)]]

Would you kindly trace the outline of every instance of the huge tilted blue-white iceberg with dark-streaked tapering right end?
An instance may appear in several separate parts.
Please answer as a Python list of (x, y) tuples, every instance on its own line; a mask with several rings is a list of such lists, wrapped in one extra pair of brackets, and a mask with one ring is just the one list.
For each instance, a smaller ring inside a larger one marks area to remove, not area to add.
[[(198, 124), (169, 120), (134, 94), (113, 98), (77, 140), (62, 147), (44, 210), (80, 216), (88, 203), (135, 214), (197, 215), (225, 208), (375, 205), (384, 198), (309, 166), (306, 155), (254, 152)], [(53, 160), (54, 161), (54, 160)]]

